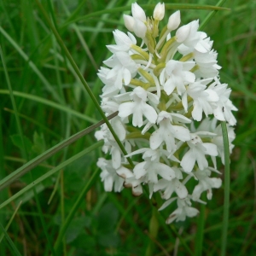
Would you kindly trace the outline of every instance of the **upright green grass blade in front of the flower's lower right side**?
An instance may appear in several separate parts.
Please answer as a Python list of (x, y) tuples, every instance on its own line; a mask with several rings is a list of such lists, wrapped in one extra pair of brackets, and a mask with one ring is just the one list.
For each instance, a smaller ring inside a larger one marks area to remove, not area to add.
[(222, 237), (221, 237), (221, 255), (226, 254), (227, 236), (229, 228), (229, 211), (230, 211), (230, 146), (229, 137), (227, 131), (227, 125), (225, 122), (221, 122), (221, 129), (224, 141), (224, 213), (222, 224)]

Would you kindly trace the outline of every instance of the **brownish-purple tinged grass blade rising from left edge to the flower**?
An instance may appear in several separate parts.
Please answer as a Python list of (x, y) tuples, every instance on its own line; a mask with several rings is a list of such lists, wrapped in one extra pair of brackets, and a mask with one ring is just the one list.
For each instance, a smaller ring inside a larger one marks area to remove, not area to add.
[[(109, 115), (108, 119), (112, 119), (116, 115), (117, 115), (117, 112)], [(90, 127), (84, 129), (83, 131), (79, 131), (78, 133), (74, 134), (72, 137), (69, 137), (66, 140), (62, 141), (61, 143), (58, 143), (54, 147), (49, 148), (43, 154), (38, 155), (33, 160), (28, 161), (24, 166), (21, 166), (15, 172), (10, 173), (9, 176), (4, 177), (0, 181), (0, 190), (7, 187), (9, 183), (14, 182), (17, 178), (23, 176), (26, 172), (29, 172), (30, 170), (32, 170), (32, 168), (38, 166), (44, 160), (47, 160), (50, 156), (59, 152), (62, 148), (65, 148), (71, 143), (76, 142), (80, 137), (83, 137), (84, 135), (88, 134), (90, 131), (94, 131), (97, 127), (99, 127), (103, 123), (104, 123), (104, 120), (98, 122), (96, 125), (91, 125)]]

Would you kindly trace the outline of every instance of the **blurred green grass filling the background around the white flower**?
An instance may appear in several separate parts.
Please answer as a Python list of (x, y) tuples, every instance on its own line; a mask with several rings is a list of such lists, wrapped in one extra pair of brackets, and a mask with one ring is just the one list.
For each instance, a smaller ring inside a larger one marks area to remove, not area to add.
[[(37, 1), (0, 2), (0, 187), (11, 173), (33, 167), (0, 192), (0, 255), (221, 253), (224, 186), (214, 189), (206, 207), (197, 206), (201, 207), (197, 218), (166, 225), (170, 209), (155, 211), (147, 196), (134, 198), (130, 189), (120, 194), (104, 192), (96, 167), (102, 143), (96, 143), (93, 131), (67, 143), (66, 148), (49, 149), (64, 145), (73, 134), (102, 119), (96, 110), (102, 90), (96, 73), (109, 56), (106, 44), (113, 44), (113, 29), (126, 31), (121, 13), (129, 12), (131, 3), (42, 1), (68, 56)], [(148, 4), (149, 15), (150, 4), (157, 2), (137, 3)], [(201, 7), (216, 1), (172, 3)], [(239, 109), (235, 113), (236, 148), (230, 157), (230, 216), (224, 254), (254, 255), (256, 5), (228, 0), (224, 7), (230, 10), (219, 10), (203, 28), (218, 51), (221, 81), (231, 87), (231, 100)], [(172, 11), (166, 12), (171, 15)], [(181, 12), (186, 24), (206, 20), (211, 10)], [(30, 166), (47, 152), (54, 154)], [(220, 171), (224, 178), (224, 167)]]

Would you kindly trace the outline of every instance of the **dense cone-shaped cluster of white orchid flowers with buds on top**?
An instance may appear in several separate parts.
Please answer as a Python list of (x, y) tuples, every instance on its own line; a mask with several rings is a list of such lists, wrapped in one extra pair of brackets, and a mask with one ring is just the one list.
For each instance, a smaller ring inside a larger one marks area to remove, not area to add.
[[(96, 139), (104, 140), (102, 151), (110, 159), (100, 158), (97, 166), (106, 191), (131, 188), (138, 196), (148, 185), (149, 197), (160, 192), (165, 201), (160, 210), (176, 201), (177, 209), (166, 220), (170, 224), (194, 217), (193, 201), (205, 203), (200, 199), (204, 191), (211, 200), (212, 189), (221, 186), (221, 179), (212, 177), (220, 174), (216, 159), (224, 163), (218, 123), (227, 123), (231, 151), (236, 137), (232, 111), (237, 109), (228, 85), (219, 80), (212, 41), (198, 32), (199, 20), (179, 26), (177, 11), (159, 31), (164, 3), (156, 5), (151, 18), (137, 3), (131, 14), (124, 15), (130, 32), (113, 32), (116, 44), (107, 46), (113, 55), (98, 73), (104, 84), (102, 109), (107, 116), (119, 111), (110, 123), (127, 155), (102, 125)], [(190, 179), (195, 179), (192, 190), (186, 186)]]

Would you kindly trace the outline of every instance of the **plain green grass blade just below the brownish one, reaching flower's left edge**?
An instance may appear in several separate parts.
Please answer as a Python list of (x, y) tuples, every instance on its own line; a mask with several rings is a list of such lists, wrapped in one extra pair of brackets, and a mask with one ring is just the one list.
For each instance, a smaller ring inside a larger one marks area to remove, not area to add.
[(88, 154), (88, 153), (90, 153), (90, 151), (93, 151), (96, 148), (101, 147), (102, 144), (103, 144), (103, 142), (98, 142), (98, 143), (95, 143), (94, 145), (90, 146), (89, 148), (85, 148), (83, 151), (79, 152), (79, 154), (75, 154), (73, 157), (71, 157), (68, 160), (62, 162), (61, 165), (56, 166), (55, 168), (53, 168), (49, 172), (45, 173), (41, 177), (38, 177), (38, 179), (34, 180), (32, 183), (27, 185), (24, 189), (20, 189), (20, 191), (17, 192), (15, 195), (11, 196), (8, 200), (4, 201), (0, 205), (0, 209), (2, 209), (3, 207), (7, 206), (11, 201), (14, 201), (20, 195), (23, 195), (24, 193), (26, 193), (26, 191), (28, 191), (28, 190), (32, 189), (33, 187), (35, 187), (38, 183), (41, 183), (46, 178), (51, 177), (52, 175), (54, 175), (56, 172), (60, 171), (65, 166), (73, 163), (73, 161), (75, 161), (75, 160), (78, 160), (80, 157), (84, 156), (84, 154)]

